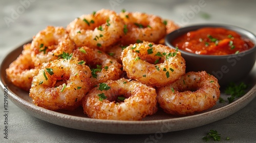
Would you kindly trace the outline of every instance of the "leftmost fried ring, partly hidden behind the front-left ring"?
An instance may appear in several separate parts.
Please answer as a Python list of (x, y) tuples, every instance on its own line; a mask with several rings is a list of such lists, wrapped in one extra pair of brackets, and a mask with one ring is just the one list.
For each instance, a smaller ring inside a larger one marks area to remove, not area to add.
[(15, 86), (26, 91), (29, 91), (32, 79), (40, 69), (35, 67), (34, 62), (32, 62), (30, 45), (31, 43), (23, 45), (22, 54), (6, 69), (7, 79)]

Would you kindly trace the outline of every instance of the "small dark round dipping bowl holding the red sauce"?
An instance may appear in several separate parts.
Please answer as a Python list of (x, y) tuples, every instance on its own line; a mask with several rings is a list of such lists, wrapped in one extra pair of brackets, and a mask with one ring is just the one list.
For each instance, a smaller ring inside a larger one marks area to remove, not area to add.
[(172, 41), (174, 39), (189, 31), (194, 31), (205, 27), (225, 28), (235, 31), (242, 37), (250, 39), (254, 43), (254, 46), (250, 50), (241, 52), (239, 54), (224, 56), (198, 55), (179, 50), (181, 52), (181, 56), (186, 61), (186, 72), (205, 70), (208, 74), (214, 75), (219, 80), (219, 84), (221, 86), (227, 85), (230, 82), (242, 80), (249, 74), (256, 59), (256, 36), (245, 29), (230, 25), (188, 26), (169, 33), (165, 37), (165, 44), (175, 49), (175, 46), (172, 45)]

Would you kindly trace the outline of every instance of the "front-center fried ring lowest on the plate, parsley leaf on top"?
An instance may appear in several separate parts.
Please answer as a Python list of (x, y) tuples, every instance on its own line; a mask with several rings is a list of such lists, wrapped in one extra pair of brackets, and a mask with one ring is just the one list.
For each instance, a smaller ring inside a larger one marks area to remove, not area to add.
[[(91, 118), (141, 120), (157, 111), (156, 96), (154, 88), (122, 78), (93, 88), (82, 100), (82, 106)], [(119, 99), (123, 102), (116, 102)]]

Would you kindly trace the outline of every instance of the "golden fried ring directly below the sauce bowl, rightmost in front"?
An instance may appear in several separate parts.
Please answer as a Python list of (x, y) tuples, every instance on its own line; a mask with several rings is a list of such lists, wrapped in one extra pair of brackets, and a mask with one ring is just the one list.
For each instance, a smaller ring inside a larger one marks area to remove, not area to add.
[(166, 113), (190, 115), (214, 106), (220, 97), (218, 80), (205, 71), (190, 71), (174, 83), (157, 89), (157, 100)]

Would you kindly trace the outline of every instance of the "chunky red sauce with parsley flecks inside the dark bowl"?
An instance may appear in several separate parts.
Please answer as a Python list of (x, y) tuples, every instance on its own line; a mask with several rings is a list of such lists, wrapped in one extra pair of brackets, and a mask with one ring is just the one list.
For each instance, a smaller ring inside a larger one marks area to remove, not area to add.
[(172, 44), (180, 50), (200, 55), (238, 54), (254, 44), (237, 32), (224, 28), (202, 28), (174, 39)]

